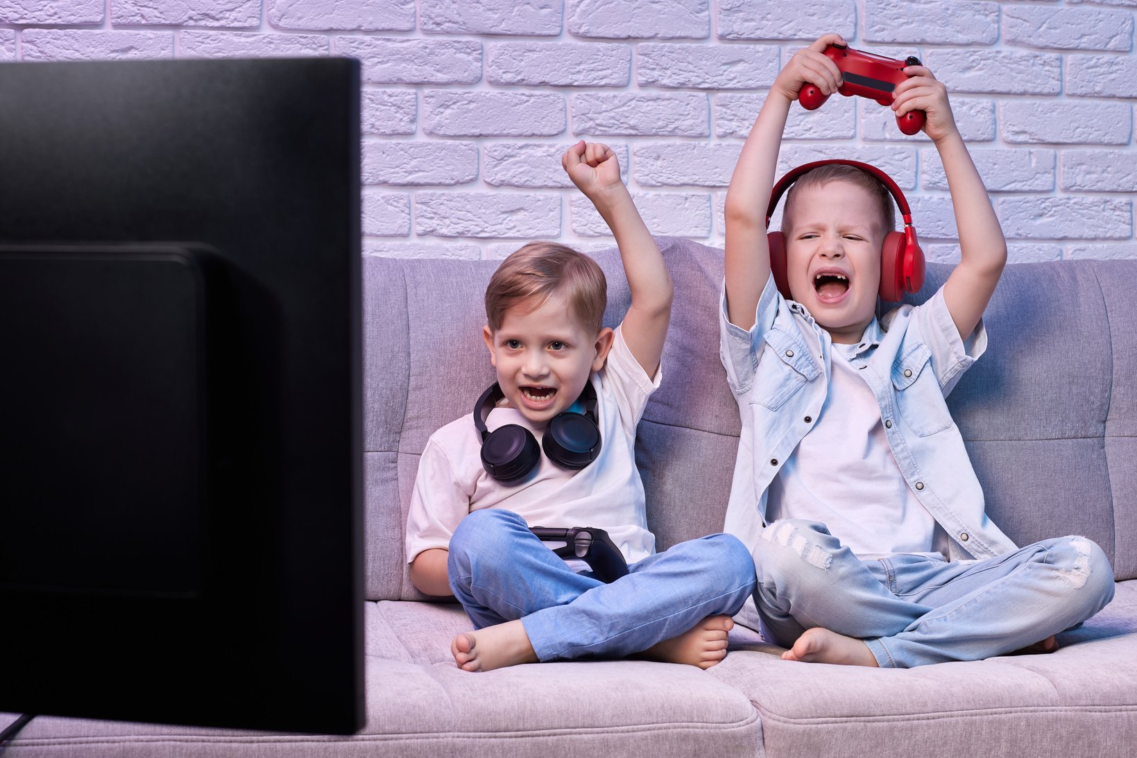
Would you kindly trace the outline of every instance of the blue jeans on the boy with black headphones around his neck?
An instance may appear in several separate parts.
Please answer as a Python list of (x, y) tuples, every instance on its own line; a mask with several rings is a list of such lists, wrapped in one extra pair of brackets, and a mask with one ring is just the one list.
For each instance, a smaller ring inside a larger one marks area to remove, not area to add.
[(520, 618), (538, 660), (640, 652), (707, 616), (733, 616), (754, 592), (750, 553), (729, 534), (649, 556), (611, 584), (574, 573), (498, 508), (463, 518), (449, 550), (450, 590), (474, 628)]

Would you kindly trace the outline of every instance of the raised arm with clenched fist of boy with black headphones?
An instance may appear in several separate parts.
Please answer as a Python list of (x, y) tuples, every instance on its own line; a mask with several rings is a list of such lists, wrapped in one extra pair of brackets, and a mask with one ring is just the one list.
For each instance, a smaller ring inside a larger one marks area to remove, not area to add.
[(628, 188), (616, 153), (583, 140), (568, 148), (561, 165), (616, 238), (632, 305), (624, 315), (624, 342), (648, 376), (655, 376), (671, 320), (671, 276)]

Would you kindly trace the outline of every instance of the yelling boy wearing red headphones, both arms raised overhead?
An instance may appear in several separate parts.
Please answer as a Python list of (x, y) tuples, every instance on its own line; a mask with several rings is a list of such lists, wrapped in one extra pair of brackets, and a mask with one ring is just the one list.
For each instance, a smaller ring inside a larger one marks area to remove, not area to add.
[[(910, 667), (1054, 650), (1054, 634), (1109, 602), (1113, 572), (1085, 538), (1007, 539), (948, 413), (986, 348), (1006, 243), (944, 85), (907, 65), (891, 105), (924, 111), (958, 227), (960, 263), (926, 303), (875, 317), (878, 297), (899, 301), (923, 280), (887, 176), (820, 161), (771, 193), (790, 105), (806, 84), (841, 86), (824, 51), (844, 44), (827, 34), (781, 70), (727, 194), (721, 356), (742, 432), (725, 531), (757, 572), (744, 614), (787, 660)], [(891, 231), (893, 199), (904, 232)]]

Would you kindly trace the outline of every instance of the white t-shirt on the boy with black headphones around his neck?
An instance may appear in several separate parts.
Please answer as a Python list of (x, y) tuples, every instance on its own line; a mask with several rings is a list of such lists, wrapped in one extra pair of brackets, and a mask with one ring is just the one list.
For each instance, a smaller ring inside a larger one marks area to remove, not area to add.
[[(542, 452), (525, 478), (503, 484), (482, 468), (473, 414), (437, 431), (418, 461), (407, 514), (407, 563), (423, 550), (448, 548), (458, 522), (481, 508), (512, 510), (530, 526), (603, 528), (629, 564), (650, 556), (655, 536), (647, 528), (636, 468), (636, 426), (662, 375), (659, 369), (654, 381), (648, 377), (616, 327), (605, 366), (589, 380), (596, 389), (600, 453), (579, 470), (562, 468)], [(490, 431), (505, 424), (524, 426), (541, 441), (543, 427), (514, 408), (495, 408), (485, 420)]]

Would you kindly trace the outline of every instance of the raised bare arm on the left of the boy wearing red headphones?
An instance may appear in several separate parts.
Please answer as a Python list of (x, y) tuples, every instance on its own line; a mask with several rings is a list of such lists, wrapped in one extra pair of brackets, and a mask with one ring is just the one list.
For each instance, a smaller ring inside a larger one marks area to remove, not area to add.
[(823, 94), (832, 94), (840, 86), (840, 70), (821, 55), (833, 43), (844, 44), (845, 41), (839, 34), (825, 34), (794, 53), (778, 74), (730, 177), (724, 213), (727, 315), (731, 324), (746, 330), (754, 326), (758, 298), (770, 277), (766, 206), (774, 184), (786, 117), (804, 83), (815, 84)]

